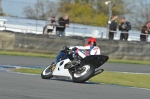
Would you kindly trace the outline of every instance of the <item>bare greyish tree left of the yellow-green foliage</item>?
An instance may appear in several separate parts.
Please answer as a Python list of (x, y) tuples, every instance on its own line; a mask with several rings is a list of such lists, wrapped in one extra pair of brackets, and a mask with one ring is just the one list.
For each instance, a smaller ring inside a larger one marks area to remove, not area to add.
[(54, 2), (49, 2), (45, 0), (38, 0), (34, 7), (26, 6), (24, 8), (23, 14), (27, 16), (27, 18), (31, 19), (47, 19), (52, 14), (56, 14), (56, 7)]

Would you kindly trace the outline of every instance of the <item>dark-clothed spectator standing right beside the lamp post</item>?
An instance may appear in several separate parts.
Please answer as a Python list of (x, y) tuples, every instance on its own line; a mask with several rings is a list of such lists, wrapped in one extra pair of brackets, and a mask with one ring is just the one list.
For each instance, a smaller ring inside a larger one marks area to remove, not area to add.
[(116, 31), (117, 31), (117, 22), (116, 22), (117, 19), (118, 19), (117, 14), (115, 14), (113, 16), (113, 18), (111, 19), (110, 28), (109, 28), (109, 39), (110, 40), (113, 40), (114, 33), (116, 33)]

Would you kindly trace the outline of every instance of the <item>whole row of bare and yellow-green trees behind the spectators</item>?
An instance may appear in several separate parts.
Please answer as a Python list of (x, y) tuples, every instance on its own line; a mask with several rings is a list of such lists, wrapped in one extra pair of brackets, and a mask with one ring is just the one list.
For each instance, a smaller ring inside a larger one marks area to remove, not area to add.
[[(0, 0), (0, 15), (6, 16), (2, 9), (3, 0)], [(23, 14), (30, 19), (49, 18), (52, 14), (63, 16), (68, 14), (72, 23), (105, 26), (108, 21), (108, 0), (60, 0), (59, 3), (51, 0), (37, 0), (34, 5), (26, 6)], [(110, 1), (110, 0), (109, 0)], [(134, 27), (142, 27), (150, 20), (149, 0), (111, 0), (115, 2), (112, 7), (113, 14), (127, 15)]]

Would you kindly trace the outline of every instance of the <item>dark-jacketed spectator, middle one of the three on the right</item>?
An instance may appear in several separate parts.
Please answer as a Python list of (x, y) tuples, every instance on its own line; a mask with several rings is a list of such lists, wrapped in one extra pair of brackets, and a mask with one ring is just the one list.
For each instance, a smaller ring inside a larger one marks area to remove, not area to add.
[(130, 22), (127, 22), (125, 17), (121, 18), (121, 24), (119, 25), (119, 30), (121, 31), (120, 40), (128, 40), (128, 31), (131, 30)]

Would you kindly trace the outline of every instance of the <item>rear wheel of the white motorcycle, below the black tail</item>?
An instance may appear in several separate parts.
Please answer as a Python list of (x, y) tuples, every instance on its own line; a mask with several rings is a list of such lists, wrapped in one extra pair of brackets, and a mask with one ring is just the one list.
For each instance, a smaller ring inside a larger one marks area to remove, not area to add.
[(72, 73), (73, 82), (84, 83), (89, 80), (95, 73), (95, 67), (92, 65), (84, 65), (80, 71)]

